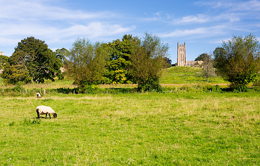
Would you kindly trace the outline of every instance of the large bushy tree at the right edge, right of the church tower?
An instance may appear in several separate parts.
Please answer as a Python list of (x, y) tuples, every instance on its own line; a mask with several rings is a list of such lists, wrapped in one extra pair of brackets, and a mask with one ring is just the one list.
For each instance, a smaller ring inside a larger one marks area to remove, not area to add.
[(254, 82), (260, 65), (259, 42), (254, 35), (234, 36), (214, 50), (215, 65), (232, 89), (245, 91)]

